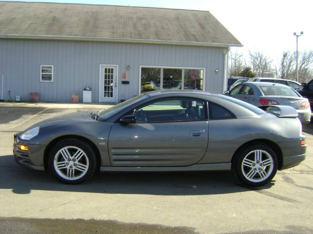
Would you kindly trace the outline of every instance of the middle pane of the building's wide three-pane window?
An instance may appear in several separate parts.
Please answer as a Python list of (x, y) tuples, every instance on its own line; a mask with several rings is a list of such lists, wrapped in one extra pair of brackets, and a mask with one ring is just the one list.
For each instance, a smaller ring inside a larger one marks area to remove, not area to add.
[(181, 69), (163, 69), (163, 89), (181, 89)]

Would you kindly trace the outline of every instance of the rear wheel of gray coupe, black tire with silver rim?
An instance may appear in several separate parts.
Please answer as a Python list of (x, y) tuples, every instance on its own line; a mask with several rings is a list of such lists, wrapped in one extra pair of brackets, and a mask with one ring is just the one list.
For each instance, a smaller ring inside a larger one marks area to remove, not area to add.
[[(257, 160), (260, 154), (258, 152), (261, 152), (260, 161)], [(271, 181), (277, 172), (277, 167), (278, 160), (275, 152), (265, 144), (254, 144), (246, 147), (239, 153), (235, 161), (234, 170), (236, 176), (245, 185), (256, 187)]]

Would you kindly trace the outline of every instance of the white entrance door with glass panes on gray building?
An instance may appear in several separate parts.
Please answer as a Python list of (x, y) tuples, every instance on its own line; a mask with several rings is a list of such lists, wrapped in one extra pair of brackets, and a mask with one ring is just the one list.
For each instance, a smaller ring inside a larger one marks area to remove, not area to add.
[(116, 102), (117, 67), (101, 66), (100, 102)]

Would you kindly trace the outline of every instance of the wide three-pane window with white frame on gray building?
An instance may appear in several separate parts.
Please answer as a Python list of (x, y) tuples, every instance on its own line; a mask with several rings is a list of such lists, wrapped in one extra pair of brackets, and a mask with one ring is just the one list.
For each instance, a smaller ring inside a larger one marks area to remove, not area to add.
[(163, 89), (203, 90), (203, 68), (141, 66), (140, 93)]

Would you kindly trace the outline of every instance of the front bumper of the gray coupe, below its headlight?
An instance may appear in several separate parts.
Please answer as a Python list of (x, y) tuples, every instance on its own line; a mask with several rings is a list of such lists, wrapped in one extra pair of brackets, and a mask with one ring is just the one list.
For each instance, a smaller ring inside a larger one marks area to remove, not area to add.
[[(30, 145), (27, 140), (22, 140), (19, 134), (14, 135), (13, 155), (18, 164), (23, 167), (45, 171), (44, 167), (44, 146), (43, 145)], [(18, 144), (28, 146), (28, 150), (24, 151), (18, 148)]]

